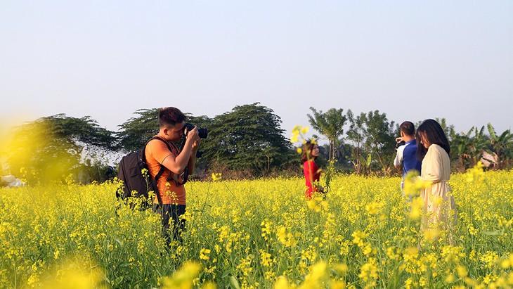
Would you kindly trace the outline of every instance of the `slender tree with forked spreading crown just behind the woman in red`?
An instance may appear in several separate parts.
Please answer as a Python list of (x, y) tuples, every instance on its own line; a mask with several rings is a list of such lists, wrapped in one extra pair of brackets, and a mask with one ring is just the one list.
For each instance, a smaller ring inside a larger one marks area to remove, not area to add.
[(326, 136), (330, 142), (330, 161), (335, 160), (335, 147), (337, 141), (344, 134), (344, 124), (347, 120), (344, 109), (330, 108), (325, 113), (322, 110), (317, 111), (313, 107), (310, 110), (313, 115), (306, 115), (309, 118), (310, 125), (319, 134)]

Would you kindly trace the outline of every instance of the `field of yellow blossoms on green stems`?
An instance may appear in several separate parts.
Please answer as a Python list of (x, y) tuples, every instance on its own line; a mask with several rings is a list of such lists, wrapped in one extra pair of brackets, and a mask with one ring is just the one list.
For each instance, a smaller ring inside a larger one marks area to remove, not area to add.
[[(420, 236), (398, 178), (186, 184), (183, 243), (115, 184), (0, 189), (2, 288), (513, 288), (513, 172), (453, 174), (452, 231)], [(119, 207), (119, 210), (117, 210)]]

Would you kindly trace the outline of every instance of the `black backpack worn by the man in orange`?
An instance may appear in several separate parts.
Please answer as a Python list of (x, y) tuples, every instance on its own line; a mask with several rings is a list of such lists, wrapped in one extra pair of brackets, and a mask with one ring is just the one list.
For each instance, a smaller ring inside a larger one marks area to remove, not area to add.
[[(150, 191), (153, 191), (157, 195), (159, 204), (162, 204), (157, 187), (157, 181), (160, 176), (162, 176), (162, 173), (164, 173), (164, 166), (160, 165), (160, 170), (155, 176), (155, 179), (153, 179), (148, 171), (148, 164), (146, 164), (145, 156), (146, 146), (154, 139), (158, 139), (166, 143), (167, 148), (171, 151), (171, 146), (167, 141), (154, 136), (146, 142), (142, 150), (125, 155), (119, 162), (117, 178), (122, 182), (117, 188), (116, 197), (124, 201), (129, 200), (129, 198), (143, 198), (141, 209), (145, 209), (152, 203), (152, 200), (149, 200), (148, 196)], [(145, 174), (142, 172), (143, 169), (145, 169)], [(131, 203), (131, 205), (134, 203)]]

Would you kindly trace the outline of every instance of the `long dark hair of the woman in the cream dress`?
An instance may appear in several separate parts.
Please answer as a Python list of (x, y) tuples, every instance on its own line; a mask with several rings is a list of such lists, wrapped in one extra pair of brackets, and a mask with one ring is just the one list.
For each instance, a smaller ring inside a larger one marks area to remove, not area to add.
[(427, 141), (431, 144), (437, 144), (441, 146), (444, 150), (446, 150), (447, 154), (450, 155), (450, 146), (449, 141), (447, 139), (446, 133), (443, 132), (442, 127), (436, 120), (424, 120), (419, 127), (417, 127), (417, 133), (415, 134), (415, 139), (417, 140), (417, 159), (422, 162), (424, 160), (424, 156), (427, 153), (427, 148), (424, 148), (424, 145), (420, 143), (422, 141), (420, 133), (424, 133)]

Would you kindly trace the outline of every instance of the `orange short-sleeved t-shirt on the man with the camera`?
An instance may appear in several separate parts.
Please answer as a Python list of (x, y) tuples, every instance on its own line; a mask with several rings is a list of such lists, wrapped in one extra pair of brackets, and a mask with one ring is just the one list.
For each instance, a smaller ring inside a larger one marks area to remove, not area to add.
[[(163, 141), (159, 141), (158, 139), (153, 139), (146, 146), (146, 164), (148, 165), (148, 170), (153, 178), (155, 178), (159, 173), (160, 164), (164, 162), (165, 158), (168, 158), (171, 154), (176, 158), (178, 153), (180, 153), (178, 148), (176, 148), (172, 143), (169, 143), (169, 146), (171, 146), (171, 151), (169, 151)], [(171, 181), (167, 181), (167, 178), (170, 175), (171, 171), (164, 167), (164, 172), (157, 181), (157, 188), (159, 188), (162, 204), (186, 205), (186, 188), (184, 188), (183, 185), (176, 186), (172, 179)], [(155, 195), (153, 203), (159, 203), (157, 195)]]

